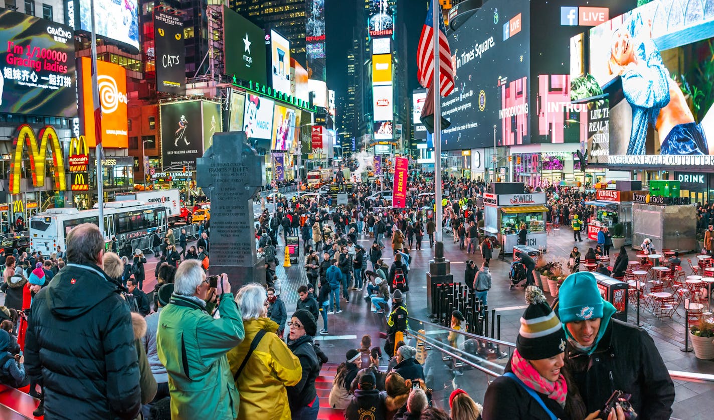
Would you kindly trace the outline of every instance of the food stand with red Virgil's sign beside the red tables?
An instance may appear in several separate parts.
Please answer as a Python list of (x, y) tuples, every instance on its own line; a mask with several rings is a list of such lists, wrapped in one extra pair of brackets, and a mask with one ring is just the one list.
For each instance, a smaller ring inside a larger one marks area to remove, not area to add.
[(623, 224), (625, 245), (632, 243), (632, 201), (633, 194), (640, 191), (618, 191), (615, 189), (595, 190), (595, 200), (585, 201), (592, 206), (595, 217), (588, 223), (588, 239), (597, 241), (600, 227), (612, 229), (615, 224)]

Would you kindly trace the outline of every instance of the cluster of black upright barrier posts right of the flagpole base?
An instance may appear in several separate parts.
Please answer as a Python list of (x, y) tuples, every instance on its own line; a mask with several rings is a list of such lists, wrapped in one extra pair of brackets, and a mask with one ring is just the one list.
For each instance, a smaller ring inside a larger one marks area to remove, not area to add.
[(481, 299), (476, 291), (459, 282), (435, 283), (431, 285), (430, 318), (435, 324), (451, 326), (451, 313), (461, 311), (466, 318), (465, 331), (471, 334), (486, 335), (488, 332), (488, 314), (483, 311)]

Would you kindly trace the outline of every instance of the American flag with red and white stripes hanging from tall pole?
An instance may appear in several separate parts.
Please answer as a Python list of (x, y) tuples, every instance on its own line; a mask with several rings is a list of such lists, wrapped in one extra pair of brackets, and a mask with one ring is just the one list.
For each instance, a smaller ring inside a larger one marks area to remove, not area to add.
[[(434, 79), (434, 9), (432, 1), (429, 1), (429, 11), (426, 14), (426, 22), (421, 29), (419, 46), (416, 50), (416, 65), (419, 84), (426, 88), (431, 86)], [(439, 14), (439, 92), (441, 96), (447, 96), (453, 91), (453, 67), (451, 66), (451, 49), (448, 47), (446, 38), (446, 26), (444, 26), (441, 7)]]

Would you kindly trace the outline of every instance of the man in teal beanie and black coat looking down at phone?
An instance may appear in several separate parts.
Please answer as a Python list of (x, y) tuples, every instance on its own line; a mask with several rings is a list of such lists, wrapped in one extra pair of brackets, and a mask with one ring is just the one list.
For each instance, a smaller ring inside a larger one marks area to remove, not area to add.
[(653, 339), (612, 319), (615, 307), (600, 296), (589, 272), (570, 274), (559, 295), (558, 314), (568, 338), (565, 364), (587, 412), (603, 409), (615, 391), (622, 391), (631, 395), (638, 418), (669, 419), (674, 384)]

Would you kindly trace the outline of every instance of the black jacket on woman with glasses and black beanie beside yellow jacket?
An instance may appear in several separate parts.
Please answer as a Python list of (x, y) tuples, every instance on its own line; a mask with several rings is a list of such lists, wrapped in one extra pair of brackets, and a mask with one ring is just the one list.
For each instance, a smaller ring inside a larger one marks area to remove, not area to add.
[(311, 336), (301, 336), (296, 341), (288, 343), (288, 348), (298, 356), (303, 368), (300, 382), (296, 386), (286, 386), (290, 411), (294, 413), (315, 401), (317, 397), (315, 379), (320, 374), (320, 362), (315, 353)]

